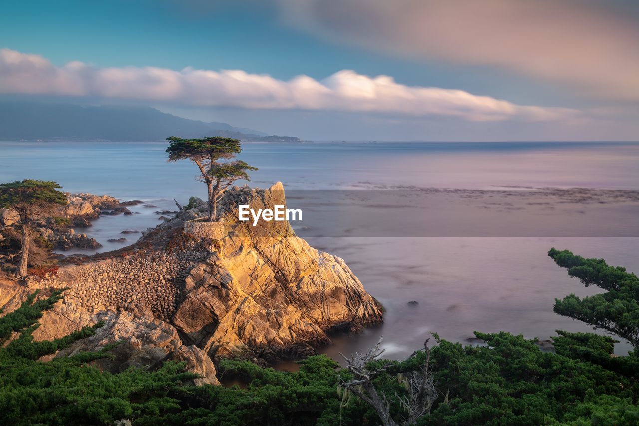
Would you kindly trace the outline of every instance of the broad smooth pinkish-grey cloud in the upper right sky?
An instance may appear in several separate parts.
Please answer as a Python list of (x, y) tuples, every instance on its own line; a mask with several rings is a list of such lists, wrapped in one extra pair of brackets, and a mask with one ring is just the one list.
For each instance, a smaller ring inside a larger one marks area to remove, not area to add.
[(275, 0), (284, 22), (396, 56), (506, 68), (639, 100), (639, 23), (620, 2)]

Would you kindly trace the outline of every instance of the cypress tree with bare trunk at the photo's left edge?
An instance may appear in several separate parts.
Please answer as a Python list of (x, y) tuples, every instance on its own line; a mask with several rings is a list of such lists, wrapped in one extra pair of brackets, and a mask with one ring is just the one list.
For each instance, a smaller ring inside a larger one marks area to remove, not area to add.
[(66, 204), (65, 194), (58, 191), (58, 182), (25, 179), (22, 182), (0, 184), (0, 207), (14, 209), (22, 223), (22, 251), (15, 277), (27, 275), (29, 265), (29, 223), (36, 214), (47, 214), (47, 209), (56, 204)]

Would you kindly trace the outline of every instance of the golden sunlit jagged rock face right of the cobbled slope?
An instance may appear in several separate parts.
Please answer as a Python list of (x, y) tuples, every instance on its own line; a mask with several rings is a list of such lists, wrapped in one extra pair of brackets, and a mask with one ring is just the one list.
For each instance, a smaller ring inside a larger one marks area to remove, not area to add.
[(337, 324), (381, 320), (374, 299), (344, 260), (309, 246), (288, 222), (236, 223), (238, 203), (256, 211), (285, 205), (281, 184), (242, 195), (237, 191), (226, 199), (231, 232), (185, 280), (172, 321), (191, 342), (227, 355), (327, 340), (325, 331)]

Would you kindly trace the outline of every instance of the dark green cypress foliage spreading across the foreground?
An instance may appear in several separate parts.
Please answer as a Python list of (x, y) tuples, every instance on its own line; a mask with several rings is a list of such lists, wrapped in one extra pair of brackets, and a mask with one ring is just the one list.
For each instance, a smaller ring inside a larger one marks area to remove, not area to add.
[[(633, 338), (628, 327), (639, 316), (635, 274), (569, 251), (551, 249), (548, 255), (584, 285), (606, 290), (584, 299), (567, 296), (557, 301), (556, 312)], [(625, 356), (613, 356), (615, 340), (610, 336), (557, 331), (553, 349), (541, 351), (535, 339), (505, 332), (477, 332), (484, 344), (466, 346), (435, 335), (436, 345), (426, 344), (404, 361), (380, 359), (375, 349), (349, 358), (348, 365), (360, 370), (339, 368), (323, 355), (302, 359), (296, 372), (225, 359), (219, 362), (218, 374), (226, 386), (193, 386), (189, 383), (196, 375), (187, 372), (183, 363), (167, 362), (152, 371), (102, 372), (93, 361), (111, 356), (108, 345), (96, 352), (38, 360), (95, 333), (102, 324), (60, 339), (34, 342), (38, 319), (61, 292), (36, 296), (0, 318), (2, 423), (112, 425), (123, 419), (134, 425), (639, 422), (636, 345)], [(358, 386), (362, 373), (368, 378)], [(412, 386), (419, 377), (427, 379), (426, 386), (418, 386), (426, 390), (422, 394), (426, 404), (420, 405), (422, 415), (412, 416), (410, 398), (416, 395)], [(387, 418), (370, 404), (373, 392), (383, 398)]]

